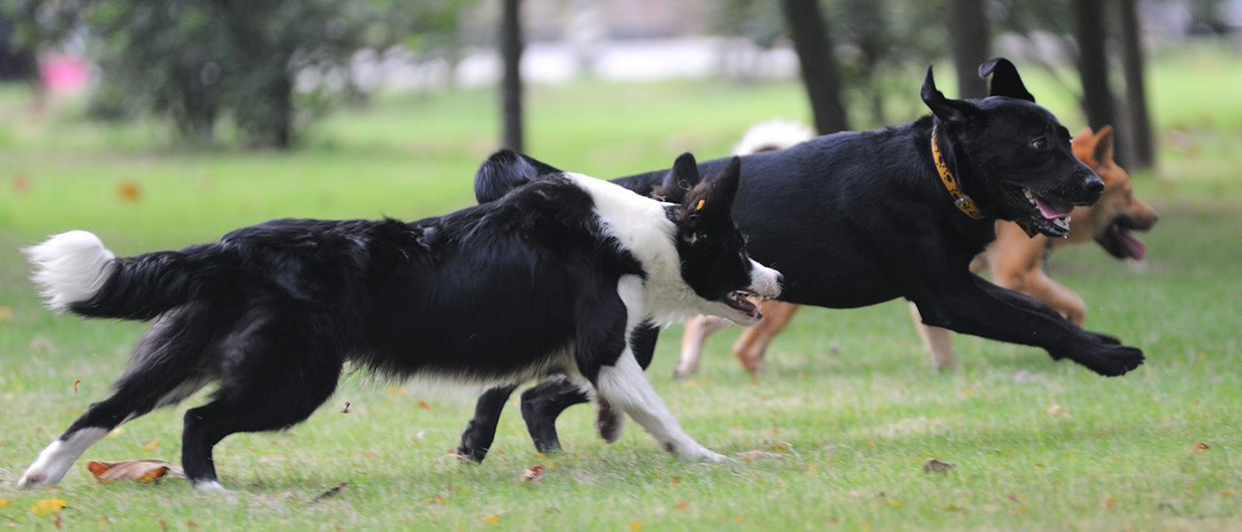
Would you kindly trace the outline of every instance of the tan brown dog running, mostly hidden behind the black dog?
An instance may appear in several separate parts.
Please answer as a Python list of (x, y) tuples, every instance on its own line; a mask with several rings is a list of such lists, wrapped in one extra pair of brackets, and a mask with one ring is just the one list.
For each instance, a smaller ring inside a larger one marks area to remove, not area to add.
[[(792, 145), (792, 144), (790, 144)], [(789, 146), (782, 146), (789, 148)], [(1043, 234), (1028, 238), (1016, 223), (996, 222), (996, 241), (987, 250), (979, 254), (970, 268), (980, 272), (991, 270), (992, 282), (997, 285), (1036, 298), (1074, 325), (1082, 326), (1087, 319), (1087, 305), (1073, 290), (1052, 280), (1043, 272), (1043, 259), (1052, 249), (1077, 246), (1094, 239), (1109, 254), (1118, 259), (1143, 260), (1146, 247), (1131, 234), (1131, 231), (1148, 231), (1156, 223), (1159, 215), (1151, 206), (1134, 197), (1130, 176), (1113, 161), (1113, 128), (1105, 125), (1098, 134), (1084, 129), (1073, 139), (1074, 155), (1104, 181), (1105, 188), (1100, 200), (1092, 207), (1074, 207), (1071, 215), (1069, 236), (1062, 239), (1049, 239)], [(797, 311), (797, 305), (780, 301), (768, 301), (763, 306), (766, 316), (759, 325), (743, 331), (733, 345), (733, 353), (741, 366), (751, 373), (763, 370), (764, 353), (768, 345), (780, 331), (789, 326)], [(940, 368), (958, 366), (953, 352), (953, 337), (946, 329), (923, 325), (918, 309), (912, 304), (910, 314), (914, 325), (928, 353), (932, 365)], [(697, 316), (686, 324), (682, 337), (682, 358), (677, 362), (673, 375), (686, 377), (698, 371), (703, 341), (713, 331), (728, 325), (725, 320)]]

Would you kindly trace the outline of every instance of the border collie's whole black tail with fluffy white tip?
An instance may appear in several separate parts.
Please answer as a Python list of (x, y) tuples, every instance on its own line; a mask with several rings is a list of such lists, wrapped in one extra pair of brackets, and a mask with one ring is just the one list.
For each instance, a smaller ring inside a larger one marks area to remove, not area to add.
[(219, 260), (220, 244), (117, 258), (87, 231), (61, 233), (22, 252), (52, 310), (122, 320), (150, 320), (184, 305), (233, 263)]

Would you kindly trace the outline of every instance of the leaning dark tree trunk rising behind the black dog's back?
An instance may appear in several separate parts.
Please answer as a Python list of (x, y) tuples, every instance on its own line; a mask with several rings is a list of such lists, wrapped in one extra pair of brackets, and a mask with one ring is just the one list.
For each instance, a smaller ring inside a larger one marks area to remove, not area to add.
[(811, 98), (815, 129), (821, 134), (850, 129), (841, 104), (841, 77), (828, 29), (816, 0), (784, 0), (785, 21)]

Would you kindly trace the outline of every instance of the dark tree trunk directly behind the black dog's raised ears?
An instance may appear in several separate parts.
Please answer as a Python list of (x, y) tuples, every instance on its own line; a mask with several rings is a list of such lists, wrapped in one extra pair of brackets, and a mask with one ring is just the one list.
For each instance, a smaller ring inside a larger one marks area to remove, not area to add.
[(986, 98), (987, 82), (979, 77), (979, 66), (991, 58), (987, 2), (949, 0), (945, 29), (949, 31), (953, 64), (958, 69), (958, 97)]

